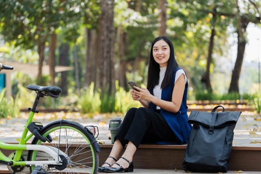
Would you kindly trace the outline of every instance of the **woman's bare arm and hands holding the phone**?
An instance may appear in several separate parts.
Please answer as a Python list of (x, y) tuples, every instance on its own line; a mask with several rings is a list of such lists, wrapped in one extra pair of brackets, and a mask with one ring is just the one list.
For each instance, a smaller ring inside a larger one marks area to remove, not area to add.
[(140, 91), (133, 91), (133, 93), (134, 93), (134, 95), (138, 96), (137, 98), (140, 97), (141, 100), (146, 100), (148, 102), (148, 106), (149, 106), (149, 102), (153, 102), (154, 104), (156, 104), (157, 106), (161, 107), (164, 110), (176, 113), (176, 112), (178, 112), (178, 110), (181, 106), (182, 97), (183, 97), (183, 93), (184, 93), (184, 89), (185, 89), (185, 84), (186, 84), (185, 75), (182, 74), (179, 76), (179, 78), (175, 82), (173, 93), (172, 93), (172, 101), (166, 101), (166, 100), (157, 98), (154, 95), (152, 95), (149, 92), (149, 90), (146, 88), (136, 87)]

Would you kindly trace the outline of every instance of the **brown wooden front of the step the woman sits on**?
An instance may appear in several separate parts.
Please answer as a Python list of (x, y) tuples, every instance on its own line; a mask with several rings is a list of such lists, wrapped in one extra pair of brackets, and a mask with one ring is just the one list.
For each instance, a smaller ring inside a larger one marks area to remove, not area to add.
[[(99, 166), (112, 144), (100, 144)], [(183, 170), (186, 145), (140, 145), (133, 159), (136, 169)], [(229, 171), (261, 171), (261, 147), (233, 146)]]

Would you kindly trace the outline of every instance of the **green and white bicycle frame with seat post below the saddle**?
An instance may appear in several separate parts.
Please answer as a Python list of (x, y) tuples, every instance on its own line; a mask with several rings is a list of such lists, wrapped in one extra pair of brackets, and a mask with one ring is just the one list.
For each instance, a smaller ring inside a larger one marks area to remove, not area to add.
[[(61, 159), (57, 155), (57, 152), (54, 150), (53, 147), (48, 147), (48, 146), (43, 146), (43, 145), (26, 145), (27, 141), (33, 137), (33, 134), (30, 133), (28, 134), (28, 128), (27, 126), (32, 122), (34, 113), (36, 112), (36, 105), (38, 103), (39, 96), (37, 94), (33, 108), (30, 109), (30, 113), (28, 116), (28, 120), (24, 126), (24, 130), (21, 136), (21, 139), (19, 141), (19, 144), (8, 144), (0, 141), (0, 149), (5, 149), (5, 150), (15, 150), (15, 154), (13, 159), (5, 156), (1, 151), (0, 151), (0, 161), (6, 165), (10, 166), (25, 166), (25, 165), (48, 165), (48, 164), (55, 164), (59, 165)], [(35, 106), (35, 107), (34, 107)], [(42, 151), (46, 152), (49, 154), (51, 157), (53, 157), (55, 160), (54, 161), (20, 161), (21, 156), (23, 151), (26, 150), (37, 150), (37, 151)], [(61, 153), (61, 152), (60, 152)]]

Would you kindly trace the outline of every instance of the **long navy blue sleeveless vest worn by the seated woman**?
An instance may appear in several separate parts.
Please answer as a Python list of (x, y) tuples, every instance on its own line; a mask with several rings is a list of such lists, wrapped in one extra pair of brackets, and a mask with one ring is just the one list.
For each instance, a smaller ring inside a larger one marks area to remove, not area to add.
[[(176, 74), (176, 71), (179, 69), (180, 68), (176, 68), (174, 70), (171, 83), (167, 87), (162, 89), (161, 99), (166, 100), (166, 101), (172, 101), (172, 93), (173, 93), (173, 88), (174, 88), (174, 83), (175, 83), (175, 74)], [(173, 112), (169, 112), (167, 110), (161, 109), (161, 113), (163, 114), (164, 118), (168, 122), (169, 126), (172, 128), (172, 130), (176, 136), (176, 139), (179, 142), (166, 142), (166, 143), (162, 142), (160, 144), (187, 144), (187, 142), (188, 142), (191, 125), (187, 122), (187, 119), (188, 119), (187, 104), (186, 104), (187, 88), (188, 88), (188, 83), (186, 82), (181, 106), (177, 113), (173, 113)], [(151, 94), (153, 94), (153, 89), (151, 89), (150, 92), (151, 92)], [(151, 110), (156, 109), (156, 105), (153, 102), (150, 102), (150, 109)]]

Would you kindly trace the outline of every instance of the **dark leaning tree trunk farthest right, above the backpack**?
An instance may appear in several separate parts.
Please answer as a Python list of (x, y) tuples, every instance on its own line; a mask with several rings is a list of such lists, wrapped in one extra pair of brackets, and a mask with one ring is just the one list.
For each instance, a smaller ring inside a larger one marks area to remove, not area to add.
[(241, 73), (241, 68), (243, 64), (244, 54), (245, 54), (245, 48), (246, 48), (246, 38), (245, 34), (247, 31), (247, 26), (249, 24), (249, 20), (244, 16), (239, 16), (238, 20), (238, 53), (237, 53), (237, 59), (234, 66), (234, 70), (232, 71), (232, 77), (230, 82), (230, 87), (228, 89), (228, 92), (237, 92), (239, 93), (239, 78)]

